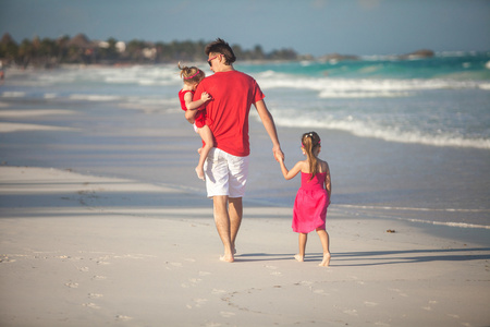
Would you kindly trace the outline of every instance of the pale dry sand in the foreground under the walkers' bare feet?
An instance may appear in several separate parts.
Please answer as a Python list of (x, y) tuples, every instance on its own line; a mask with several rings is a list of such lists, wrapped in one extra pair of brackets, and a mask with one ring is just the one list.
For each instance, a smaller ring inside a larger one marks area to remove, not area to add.
[(321, 268), (315, 234), (306, 262), (292, 258), (290, 208), (248, 206), (228, 264), (218, 259), (211, 203), (169, 205), (173, 196), (187, 194), (0, 167), (0, 326), (490, 324), (490, 250), (481, 245), (332, 206), (333, 256)]

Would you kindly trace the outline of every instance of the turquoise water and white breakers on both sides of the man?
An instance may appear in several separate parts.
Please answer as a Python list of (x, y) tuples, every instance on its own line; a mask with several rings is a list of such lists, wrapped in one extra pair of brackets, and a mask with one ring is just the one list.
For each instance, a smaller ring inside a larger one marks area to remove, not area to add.
[[(201, 68), (211, 72), (203, 63)], [(490, 53), (359, 61), (241, 63), (282, 126), (360, 137), (490, 149)], [(175, 65), (8, 71), (0, 97), (123, 101), (173, 108)]]

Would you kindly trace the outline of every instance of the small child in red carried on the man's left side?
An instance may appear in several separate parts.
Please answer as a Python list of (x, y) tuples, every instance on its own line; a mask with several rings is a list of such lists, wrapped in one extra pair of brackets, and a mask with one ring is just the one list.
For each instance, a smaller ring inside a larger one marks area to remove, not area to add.
[(196, 66), (181, 66), (180, 62), (179, 69), (181, 70), (181, 77), (184, 80), (184, 87), (179, 92), (182, 110), (193, 112), (195, 117), (194, 130), (203, 138), (203, 147), (198, 150), (199, 162), (196, 167), (196, 173), (199, 179), (204, 180), (204, 162), (213, 146), (212, 133), (206, 122), (204, 105), (211, 99), (211, 96), (204, 92), (200, 99), (193, 101), (196, 87), (204, 80), (205, 73)]

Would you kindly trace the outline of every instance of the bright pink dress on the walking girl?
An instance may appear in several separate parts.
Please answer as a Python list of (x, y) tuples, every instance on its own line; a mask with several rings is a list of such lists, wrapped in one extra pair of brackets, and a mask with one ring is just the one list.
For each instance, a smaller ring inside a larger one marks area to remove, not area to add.
[(317, 228), (324, 229), (329, 194), (324, 189), (327, 172), (317, 173), (313, 180), (310, 173), (302, 172), (302, 186), (297, 191), (293, 210), (293, 231), (309, 233)]

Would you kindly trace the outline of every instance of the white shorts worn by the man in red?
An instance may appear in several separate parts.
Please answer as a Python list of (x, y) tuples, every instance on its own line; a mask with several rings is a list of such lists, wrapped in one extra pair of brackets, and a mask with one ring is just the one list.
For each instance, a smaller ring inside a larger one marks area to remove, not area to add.
[(248, 157), (236, 157), (213, 147), (206, 159), (205, 173), (208, 197), (243, 197), (248, 175)]

